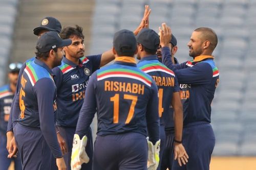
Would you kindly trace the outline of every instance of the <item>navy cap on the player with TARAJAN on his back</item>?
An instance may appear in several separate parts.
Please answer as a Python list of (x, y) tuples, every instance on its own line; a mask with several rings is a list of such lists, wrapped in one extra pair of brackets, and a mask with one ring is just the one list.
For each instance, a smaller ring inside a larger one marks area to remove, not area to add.
[(152, 30), (144, 28), (136, 36), (137, 42), (142, 44), (148, 50), (157, 50), (160, 44), (158, 34)]

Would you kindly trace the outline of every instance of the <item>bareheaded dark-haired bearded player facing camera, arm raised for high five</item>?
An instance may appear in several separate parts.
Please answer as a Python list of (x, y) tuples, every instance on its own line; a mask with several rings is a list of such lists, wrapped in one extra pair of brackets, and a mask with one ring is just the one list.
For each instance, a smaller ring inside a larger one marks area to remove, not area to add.
[[(146, 27), (145, 20), (148, 21), (150, 12), (148, 6), (145, 6), (144, 16), (139, 27), (134, 31), (135, 34)], [(115, 57), (112, 50), (85, 57), (84, 35), (82, 28), (79, 26), (66, 27), (61, 31), (60, 36), (62, 39), (72, 39), (72, 44), (63, 49), (65, 56), (61, 65), (53, 69), (56, 75), (54, 81), (57, 87), (57, 137), (64, 139), (61, 140), (62, 142), (59, 140), (59, 143), (62, 153), (67, 153), (64, 158), (68, 169), (71, 169), (72, 143), (89, 78), (95, 70), (114, 60)], [(92, 169), (93, 141), (91, 128), (88, 129), (86, 135), (88, 137), (86, 151), (91, 161), (83, 164), (81, 169)]]

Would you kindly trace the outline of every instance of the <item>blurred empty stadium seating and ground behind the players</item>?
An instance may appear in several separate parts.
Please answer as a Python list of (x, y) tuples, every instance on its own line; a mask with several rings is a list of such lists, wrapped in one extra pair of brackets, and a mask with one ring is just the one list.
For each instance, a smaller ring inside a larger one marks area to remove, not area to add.
[(172, 28), (179, 62), (191, 60), (186, 44), (196, 28), (216, 31), (220, 83), (212, 103), (211, 169), (256, 169), (256, 0), (0, 0), (0, 85), (10, 62), (34, 56), (33, 29), (42, 18), (83, 27), (86, 54), (99, 54), (112, 47), (116, 31), (135, 30), (144, 5), (152, 9), (151, 29), (158, 32), (162, 22)]

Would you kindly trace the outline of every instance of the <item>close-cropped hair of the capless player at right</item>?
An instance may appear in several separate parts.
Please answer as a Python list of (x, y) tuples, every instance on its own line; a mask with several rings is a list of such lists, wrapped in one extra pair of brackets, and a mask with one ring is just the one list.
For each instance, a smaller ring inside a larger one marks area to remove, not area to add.
[(218, 37), (215, 33), (214, 30), (210, 29), (210, 28), (207, 28), (207, 27), (200, 27), (200, 28), (197, 28), (196, 30), (194, 30), (196, 32), (201, 32), (201, 38), (203, 41), (210, 41), (210, 49), (212, 51), (214, 51), (215, 47), (217, 46), (218, 44)]

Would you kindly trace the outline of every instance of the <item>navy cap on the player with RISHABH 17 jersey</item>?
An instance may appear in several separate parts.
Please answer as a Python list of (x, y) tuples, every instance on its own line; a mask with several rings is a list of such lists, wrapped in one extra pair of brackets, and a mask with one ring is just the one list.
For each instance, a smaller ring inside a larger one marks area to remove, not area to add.
[(113, 46), (118, 54), (131, 54), (137, 49), (137, 41), (134, 33), (129, 30), (120, 30), (115, 33)]

